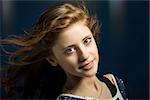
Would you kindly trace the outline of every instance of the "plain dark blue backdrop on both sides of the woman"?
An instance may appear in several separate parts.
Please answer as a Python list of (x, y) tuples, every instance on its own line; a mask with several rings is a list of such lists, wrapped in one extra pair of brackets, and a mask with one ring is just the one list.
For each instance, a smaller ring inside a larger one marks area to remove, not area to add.
[[(1, 1), (1, 36), (22, 35), (41, 13), (60, 1)], [(88, 1), (102, 22), (99, 74), (122, 78), (129, 98), (149, 98), (149, 2)], [(2, 64), (4, 65), (4, 59)]]

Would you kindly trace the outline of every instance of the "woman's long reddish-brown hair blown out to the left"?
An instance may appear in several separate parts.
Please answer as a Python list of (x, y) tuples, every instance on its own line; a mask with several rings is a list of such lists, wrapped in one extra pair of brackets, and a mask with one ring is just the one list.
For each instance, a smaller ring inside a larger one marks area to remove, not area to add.
[[(11, 84), (17, 80), (23, 79), (22, 98), (56, 98), (65, 82), (65, 75), (59, 66), (58, 68), (50, 67), (46, 58), (53, 55), (51, 48), (58, 35), (79, 21), (85, 22), (98, 42), (100, 27), (96, 17), (90, 16), (85, 6), (72, 4), (63, 4), (46, 10), (27, 36), (1, 40), (2, 45), (20, 46), (10, 55), (11, 67), (8, 69), (7, 80), (4, 82), (6, 87), (11, 87)], [(60, 78), (59, 75), (64, 77)], [(57, 84), (53, 84), (54, 81)], [(11, 96), (10, 90), (7, 91), (6, 97)]]

